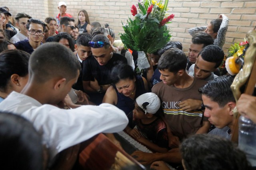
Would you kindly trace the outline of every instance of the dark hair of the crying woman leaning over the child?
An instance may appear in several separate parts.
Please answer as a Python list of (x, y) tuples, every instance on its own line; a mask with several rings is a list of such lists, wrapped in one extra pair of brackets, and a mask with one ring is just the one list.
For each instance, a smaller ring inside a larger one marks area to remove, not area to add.
[(136, 73), (131, 66), (123, 63), (116, 64), (111, 71), (111, 80), (113, 84), (118, 83), (120, 80), (129, 78), (130, 80), (136, 77)]

